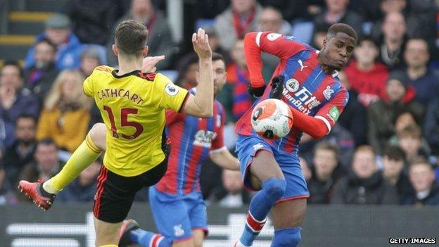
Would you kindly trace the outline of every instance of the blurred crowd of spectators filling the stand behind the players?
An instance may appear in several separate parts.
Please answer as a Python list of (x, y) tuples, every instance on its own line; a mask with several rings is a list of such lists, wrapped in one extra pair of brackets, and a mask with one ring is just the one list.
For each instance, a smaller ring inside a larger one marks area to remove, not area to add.
[[(439, 205), (439, 1), (429, 0), (203, 0), (185, 1), (184, 40), (175, 43), (166, 2), (70, 0), (46, 20), (24, 62), (0, 68), (0, 204), (27, 201), (18, 180), (58, 172), (101, 115), (82, 91), (97, 65), (117, 66), (114, 27), (134, 18), (149, 30), (150, 55), (181, 87), (195, 87), (198, 61), (190, 34), (203, 27), (213, 51), (227, 60), (227, 84), (217, 96), (227, 111), (227, 147), (234, 124), (255, 99), (243, 53), (248, 32), (294, 35), (321, 49), (333, 23), (348, 23), (360, 41), (340, 79), (350, 101), (322, 140), (303, 134), (300, 165), (309, 203)], [(186, 16), (189, 15), (189, 16)], [(278, 60), (263, 53), (268, 83)], [(57, 201), (93, 201), (98, 159)], [(218, 179), (221, 175), (222, 179)], [(252, 194), (239, 172), (208, 162), (201, 175), (208, 203), (237, 207)], [(147, 200), (146, 190), (136, 200)]]

